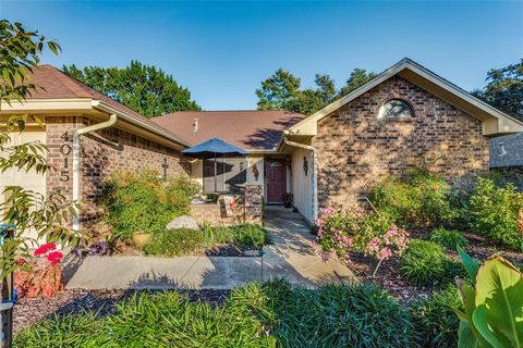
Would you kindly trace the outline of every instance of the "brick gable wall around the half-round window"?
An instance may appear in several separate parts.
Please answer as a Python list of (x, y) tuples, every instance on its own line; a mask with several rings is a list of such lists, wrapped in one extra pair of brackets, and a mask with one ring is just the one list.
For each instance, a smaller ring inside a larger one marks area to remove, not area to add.
[[(391, 98), (408, 101), (414, 117), (378, 120)], [(410, 82), (394, 76), (318, 123), (318, 201), (340, 208), (354, 202), (380, 177), (403, 174), (422, 159), (447, 177), (488, 169), (482, 122)]]

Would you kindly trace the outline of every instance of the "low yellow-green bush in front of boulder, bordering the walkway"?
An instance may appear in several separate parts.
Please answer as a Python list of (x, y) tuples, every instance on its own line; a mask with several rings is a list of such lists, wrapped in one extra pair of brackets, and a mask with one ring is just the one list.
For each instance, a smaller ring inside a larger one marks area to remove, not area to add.
[(202, 251), (205, 247), (206, 243), (202, 231), (161, 229), (153, 234), (144, 247), (144, 252), (163, 257), (181, 257)]

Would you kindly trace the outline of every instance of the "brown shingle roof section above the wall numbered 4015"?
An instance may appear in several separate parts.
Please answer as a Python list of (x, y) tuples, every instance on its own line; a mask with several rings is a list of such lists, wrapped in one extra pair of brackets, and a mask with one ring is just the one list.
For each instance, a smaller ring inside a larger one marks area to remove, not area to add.
[(89, 86), (81, 83), (80, 80), (66, 75), (62, 71), (58, 70), (51, 65), (39, 65), (38, 67), (33, 69), (33, 73), (29, 76), (29, 82), (37, 86), (36, 90), (32, 90), (29, 96), (26, 98), (27, 101), (31, 100), (46, 100), (46, 99), (93, 99), (99, 100), (105, 104), (111, 107), (117, 112), (122, 113), (123, 115), (131, 119), (130, 121), (135, 121), (136, 124), (145, 125), (149, 132), (157, 133), (161, 136), (170, 138), (170, 140), (178, 141), (184, 146), (184, 141), (180, 141), (174, 134), (170, 133), (167, 129), (159, 127), (156, 123), (151, 122), (149, 119), (141, 115), (136, 111), (119, 103), (118, 101), (107, 97), (106, 95), (100, 94), (99, 91), (90, 88)]

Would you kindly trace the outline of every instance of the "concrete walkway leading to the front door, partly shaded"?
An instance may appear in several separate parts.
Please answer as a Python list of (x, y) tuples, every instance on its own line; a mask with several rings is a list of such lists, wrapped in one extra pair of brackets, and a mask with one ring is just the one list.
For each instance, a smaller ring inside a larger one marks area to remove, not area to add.
[(297, 213), (267, 207), (265, 223), (273, 244), (258, 258), (87, 257), (65, 265), (65, 287), (230, 289), (275, 277), (309, 287), (354, 281), (348, 268), (314, 254), (309, 227)]

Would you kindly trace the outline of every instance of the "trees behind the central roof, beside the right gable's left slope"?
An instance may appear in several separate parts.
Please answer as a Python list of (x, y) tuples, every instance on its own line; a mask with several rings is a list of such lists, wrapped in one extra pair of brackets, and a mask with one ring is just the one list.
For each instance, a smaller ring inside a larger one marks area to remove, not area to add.
[(314, 79), (316, 88), (300, 89), (301, 79), (279, 69), (262, 82), (260, 89), (256, 89), (258, 110), (289, 110), (313, 114), (374, 76), (376, 76), (375, 73), (367, 74), (363, 69), (355, 69), (346, 80), (346, 85), (337, 90), (335, 80), (329, 75), (316, 74)]

